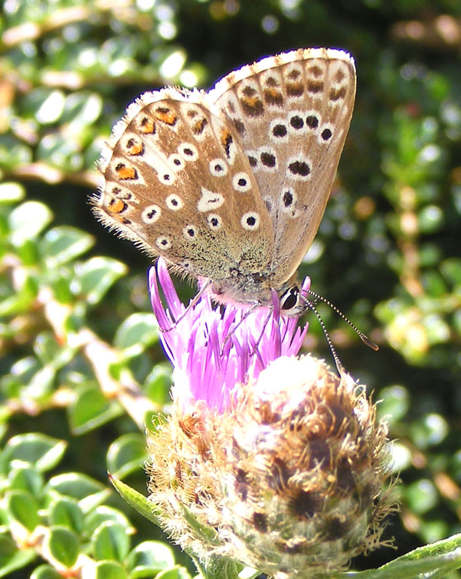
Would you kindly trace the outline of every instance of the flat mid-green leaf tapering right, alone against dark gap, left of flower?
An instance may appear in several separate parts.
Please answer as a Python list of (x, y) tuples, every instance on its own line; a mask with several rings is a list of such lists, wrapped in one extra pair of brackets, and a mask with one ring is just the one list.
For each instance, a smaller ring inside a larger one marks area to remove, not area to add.
[(123, 408), (115, 400), (107, 400), (100, 388), (86, 383), (75, 390), (68, 406), (69, 422), (74, 434), (82, 434), (123, 414)]

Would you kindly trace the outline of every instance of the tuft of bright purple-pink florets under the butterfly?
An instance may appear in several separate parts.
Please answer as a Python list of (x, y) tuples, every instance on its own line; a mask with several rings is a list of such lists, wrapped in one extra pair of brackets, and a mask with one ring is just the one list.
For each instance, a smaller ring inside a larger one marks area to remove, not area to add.
[[(204, 400), (209, 408), (222, 411), (236, 384), (257, 378), (280, 356), (296, 356), (307, 332), (307, 325), (300, 329), (296, 318), (280, 315), (275, 292), (272, 310), (260, 307), (248, 313), (248, 308), (226, 306), (222, 311), (204, 295), (186, 311), (163, 259), (151, 268), (149, 285), (152, 307), (163, 330), (161, 341), (174, 366), (172, 395), (183, 409)], [(309, 286), (306, 278), (302, 291)]]

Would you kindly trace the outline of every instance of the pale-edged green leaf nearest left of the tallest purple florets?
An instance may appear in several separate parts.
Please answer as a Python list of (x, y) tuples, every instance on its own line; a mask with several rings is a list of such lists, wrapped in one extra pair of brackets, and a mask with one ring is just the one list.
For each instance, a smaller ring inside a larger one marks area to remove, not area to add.
[(93, 257), (75, 267), (80, 293), (89, 304), (97, 304), (119, 277), (127, 273), (127, 266), (109, 257)]

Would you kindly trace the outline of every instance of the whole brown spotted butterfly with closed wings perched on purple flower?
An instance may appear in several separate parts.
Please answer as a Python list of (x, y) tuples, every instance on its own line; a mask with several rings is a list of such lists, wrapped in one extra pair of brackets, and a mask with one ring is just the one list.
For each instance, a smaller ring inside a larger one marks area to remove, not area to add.
[(299, 49), (209, 92), (165, 87), (102, 151), (94, 213), (217, 302), (306, 309), (296, 271), (320, 225), (354, 107), (353, 58)]

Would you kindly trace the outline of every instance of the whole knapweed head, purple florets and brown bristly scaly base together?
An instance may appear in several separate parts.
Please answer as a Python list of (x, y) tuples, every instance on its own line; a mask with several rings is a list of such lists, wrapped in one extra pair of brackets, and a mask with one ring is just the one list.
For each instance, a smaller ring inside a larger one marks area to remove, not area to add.
[[(184, 311), (165, 272), (171, 318), (151, 276), (163, 327)], [(162, 336), (177, 368), (172, 413), (150, 433), (150, 500), (172, 539), (205, 565), (229, 558), (278, 579), (344, 569), (382, 544), (394, 508), (386, 425), (348, 374), (295, 357), (303, 332), (275, 302), (269, 322), (248, 316), (224, 343), (241, 315), (201, 300)]]

